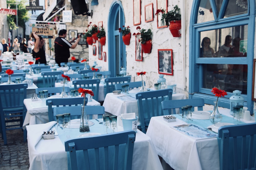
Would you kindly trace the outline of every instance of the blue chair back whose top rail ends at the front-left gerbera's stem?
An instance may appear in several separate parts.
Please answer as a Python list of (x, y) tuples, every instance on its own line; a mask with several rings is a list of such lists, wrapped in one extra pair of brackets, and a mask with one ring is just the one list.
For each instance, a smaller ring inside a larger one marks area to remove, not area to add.
[[(48, 106), (48, 117), (49, 122), (54, 120), (53, 116), (53, 106), (56, 107), (69, 107), (69, 106), (78, 106), (78, 104), (83, 104), (83, 97), (72, 97), (72, 98), (54, 98), (54, 99), (46, 99), (46, 106)], [(86, 98), (86, 104), (88, 99)], [(80, 110), (81, 114), (81, 110)], [(55, 119), (56, 120), (56, 119)]]

